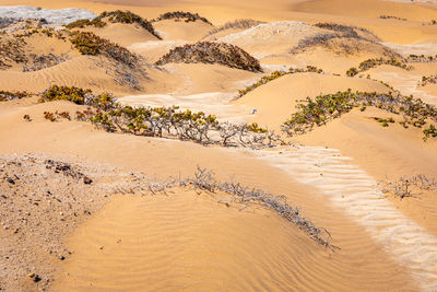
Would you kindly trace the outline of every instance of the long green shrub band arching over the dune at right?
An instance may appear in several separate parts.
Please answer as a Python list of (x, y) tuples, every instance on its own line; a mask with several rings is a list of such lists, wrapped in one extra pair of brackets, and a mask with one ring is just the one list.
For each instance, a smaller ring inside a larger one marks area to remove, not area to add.
[[(306, 101), (300, 101), (296, 106), (297, 112), (283, 124), (282, 129), (288, 136), (305, 133), (316, 126), (326, 125), (328, 121), (339, 118), (355, 107), (365, 108), (367, 106), (375, 106), (402, 116), (403, 120), (400, 124), (404, 128), (409, 128), (409, 126), (422, 128), (428, 122), (430, 125), (437, 124), (437, 108), (422, 100), (403, 96), (399, 93), (393, 95), (391, 93), (352, 92), (349, 90), (335, 94), (319, 95), (315, 100), (307, 97)], [(388, 122), (391, 121), (381, 120), (382, 126), (388, 125)], [(430, 130), (426, 132), (433, 132), (434, 128), (435, 126), (430, 127)], [(425, 137), (426, 132), (424, 131)]]

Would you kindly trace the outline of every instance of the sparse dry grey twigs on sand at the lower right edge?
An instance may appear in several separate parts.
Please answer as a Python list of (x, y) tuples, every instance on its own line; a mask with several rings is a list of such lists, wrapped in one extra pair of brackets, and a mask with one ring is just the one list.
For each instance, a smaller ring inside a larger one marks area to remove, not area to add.
[(402, 200), (423, 191), (437, 191), (437, 180), (425, 175), (402, 176), (393, 182), (385, 182), (382, 191)]

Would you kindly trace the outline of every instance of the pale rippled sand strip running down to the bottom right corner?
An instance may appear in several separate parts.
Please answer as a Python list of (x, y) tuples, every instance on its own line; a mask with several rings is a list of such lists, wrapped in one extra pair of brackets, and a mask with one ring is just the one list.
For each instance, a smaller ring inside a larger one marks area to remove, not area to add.
[(295, 180), (317, 187), (405, 266), (423, 291), (437, 291), (437, 238), (387, 200), (378, 183), (350, 157), (320, 147), (299, 147), (282, 154), (262, 151), (261, 155)]

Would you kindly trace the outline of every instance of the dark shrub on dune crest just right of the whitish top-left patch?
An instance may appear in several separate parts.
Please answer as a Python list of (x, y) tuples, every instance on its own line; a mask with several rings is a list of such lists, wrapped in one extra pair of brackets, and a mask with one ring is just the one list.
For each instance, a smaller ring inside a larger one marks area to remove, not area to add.
[(73, 23), (70, 23), (66, 25), (67, 28), (84, 28), (86, 26), (95, 26), (95, 27), (104, 27), (106, 26), (106, 22), (108, 21), (110, 23), (137, 23), (154, 36), (156, 36), (158, 39), (162, 39), (161, 36), (156, 33), (155, 28), (153, 27), (152, 23), (149, 22), (147, 20), (141, 17), (140, 15), (137, 15), (130, 11), (121, 11), (121, 10), (116, 10), (116, 11), (104, 11), (95, 17), (94, 20), (78, 20)]

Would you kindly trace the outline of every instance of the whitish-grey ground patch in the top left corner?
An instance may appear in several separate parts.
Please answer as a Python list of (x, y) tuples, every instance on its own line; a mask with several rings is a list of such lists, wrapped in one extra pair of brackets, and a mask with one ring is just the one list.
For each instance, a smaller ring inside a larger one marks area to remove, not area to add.
[(45, 19), (49, 24), (68, 24), (81, 19), (92, 20), (96, 16), (97, 14), (88, 10), (78, 8), (52, 10), (25, 5), (0, 7), (0, 17), (23, 20)]

